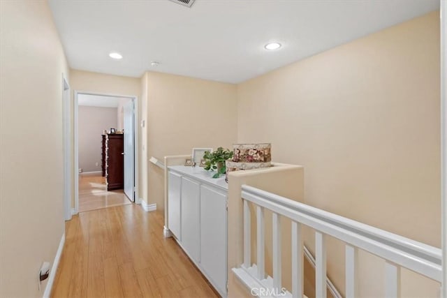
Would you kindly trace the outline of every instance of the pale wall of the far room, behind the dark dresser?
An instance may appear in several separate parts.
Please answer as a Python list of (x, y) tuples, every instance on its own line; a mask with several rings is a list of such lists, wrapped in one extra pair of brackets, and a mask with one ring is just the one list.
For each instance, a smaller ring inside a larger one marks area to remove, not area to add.
[(117, 111), (117, 107), (79, 106), (78, 154), (82, 172), (101, 171), (101, 135), (104, 130), (117, 128)]

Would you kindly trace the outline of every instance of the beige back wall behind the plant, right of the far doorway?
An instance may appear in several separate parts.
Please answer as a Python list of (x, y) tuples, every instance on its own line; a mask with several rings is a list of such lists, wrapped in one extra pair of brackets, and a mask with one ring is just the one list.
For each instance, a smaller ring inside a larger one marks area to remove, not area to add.
[[(236, 86), (146, 73), (147, 156), (191, 154), (193, 147), (228, 147), (237, 137)], [(145, 103), (143, 103), (145, 105)], [(163, 170), (149, 164), (147, 197), (163, 209)]]

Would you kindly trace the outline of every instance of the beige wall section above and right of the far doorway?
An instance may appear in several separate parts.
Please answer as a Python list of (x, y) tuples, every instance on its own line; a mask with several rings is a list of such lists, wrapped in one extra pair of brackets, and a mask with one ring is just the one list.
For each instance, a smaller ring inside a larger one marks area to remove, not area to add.
[[(91, 73), (83, 70), (70, 70), (71, 100), (73, 103), (73, 91), (94, 92), (97, 94), (138, 96), (138, 121), (141, 119), (141, 82), (136, 77), (121, 77), (119, 75), (105, 75), (103, 73)], [(73, 124), (73, 121), (72, 121)], [(73, 125), (71, 126), (73, 128)], [(140, 136), (140, 126), (138, 135)], [(138, 156), (141, 158), (141, 138), (138, 140)], [(141, 163), (141, 161), (140, 161)], [(142, 176), (142, 169), (138, 167), (138, 175)], [(73, 190), (74, 191), (74, 190)], [(138, 185), (138, 192), (142, 192), (142, 184)], [(74, 206), (74, 202), (73, 202)]]

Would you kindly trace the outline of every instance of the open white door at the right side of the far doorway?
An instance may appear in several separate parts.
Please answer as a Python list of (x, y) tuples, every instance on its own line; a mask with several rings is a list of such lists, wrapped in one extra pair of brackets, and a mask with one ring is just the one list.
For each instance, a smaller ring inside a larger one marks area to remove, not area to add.
[(124, 104), (124, 193), (135, 202), (133, 100)]

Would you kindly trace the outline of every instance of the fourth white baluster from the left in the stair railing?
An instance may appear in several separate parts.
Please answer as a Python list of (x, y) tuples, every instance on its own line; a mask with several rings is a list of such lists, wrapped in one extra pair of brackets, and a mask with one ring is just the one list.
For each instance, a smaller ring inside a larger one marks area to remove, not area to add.
[(292, 297), (302, 298), (303, 288), (303, 253), (301, 224), (292, 221)]

